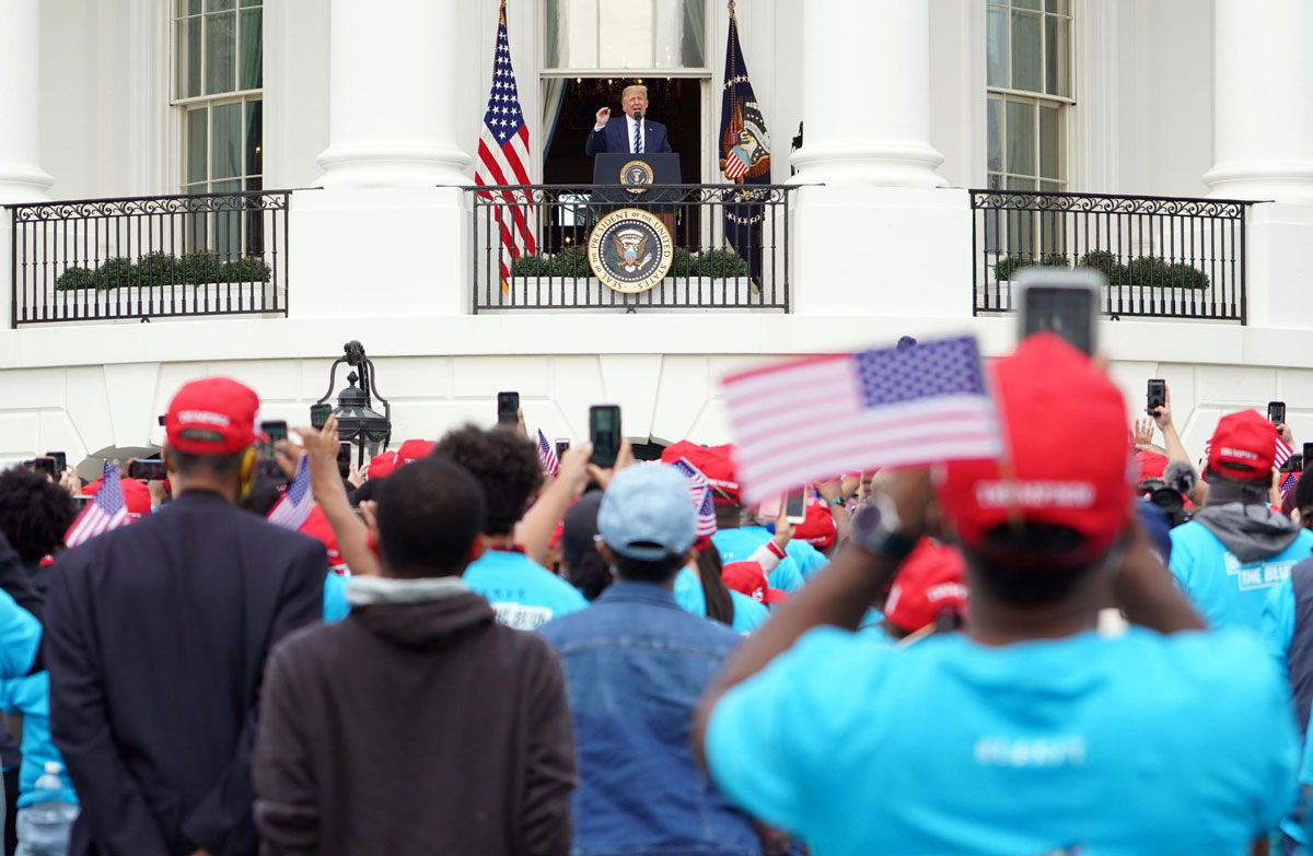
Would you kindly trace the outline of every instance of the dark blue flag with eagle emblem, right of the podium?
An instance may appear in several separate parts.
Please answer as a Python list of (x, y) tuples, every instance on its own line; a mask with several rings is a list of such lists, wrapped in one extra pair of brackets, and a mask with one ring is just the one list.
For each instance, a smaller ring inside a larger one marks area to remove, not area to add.
[(771, 182), (771, 137), (762, 106), (747, 76), (738, 38), (738, 18), (730, 0), (730, 33), (725, 46), (725, 87), (721, 93), (721, 175), (741, 186), (725, 193), (725, 240), (747, 260), (752, 282), (762, 284), (762, 223), (765, 192), (746, 185)]

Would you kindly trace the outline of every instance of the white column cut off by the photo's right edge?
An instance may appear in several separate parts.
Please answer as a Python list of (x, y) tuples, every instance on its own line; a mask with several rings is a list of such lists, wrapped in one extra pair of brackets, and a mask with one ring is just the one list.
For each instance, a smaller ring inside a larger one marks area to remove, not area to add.
[(1213, 196), (1313, 203), (1309, 34), (1308, 0), (1215, 0)]

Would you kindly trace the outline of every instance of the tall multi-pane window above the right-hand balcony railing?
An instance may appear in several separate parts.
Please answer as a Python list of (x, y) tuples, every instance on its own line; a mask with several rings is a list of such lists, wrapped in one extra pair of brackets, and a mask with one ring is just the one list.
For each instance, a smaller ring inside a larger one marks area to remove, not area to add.
[[(989, 186), (1066, 190), (1071, 0), (987, 0), (985, 39)], [(1007, 243), (1025, 252), (1061, 252), (1061, 235), (1037, 218), (1011, 217)]]

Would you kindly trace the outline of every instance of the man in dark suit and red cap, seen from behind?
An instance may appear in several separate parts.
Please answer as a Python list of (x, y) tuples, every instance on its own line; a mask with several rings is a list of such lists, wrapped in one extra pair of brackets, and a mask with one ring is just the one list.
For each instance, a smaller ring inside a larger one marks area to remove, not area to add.
[(319, 618), (323, 546), (235, 507), (256, 394), (184, 386), (176, 499), (64, 553), (46, 601), (50, 730), (81, 800), (71, 856), (252, 856), (251, 752), (269, 649)]

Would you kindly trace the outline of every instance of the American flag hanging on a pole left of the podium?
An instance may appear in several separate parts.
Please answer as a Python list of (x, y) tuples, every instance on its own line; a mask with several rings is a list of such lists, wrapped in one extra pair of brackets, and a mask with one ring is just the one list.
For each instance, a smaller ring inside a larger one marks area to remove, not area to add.
[[(520, 96), (515, 88), (511, 68), (511, 43), (506, 35), (506, 0), (498, 12), (496, 58), (492, 60), (492, 89), (488, 109), (479, 127), (479, 159), (474, 167), (474, 184), (507, 185), (529, 184), (529, 127), (520, 110)], [(529, 194), (524, 190), (482, 190), (484, 200), (499, 198), (492, 207), (498, 230), (502, 263), (502, 289), (511, 277), (511, 261), (516, 256), (537, 252), (533, 240), (536, 217)]]

